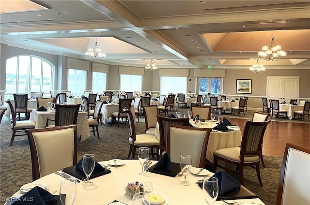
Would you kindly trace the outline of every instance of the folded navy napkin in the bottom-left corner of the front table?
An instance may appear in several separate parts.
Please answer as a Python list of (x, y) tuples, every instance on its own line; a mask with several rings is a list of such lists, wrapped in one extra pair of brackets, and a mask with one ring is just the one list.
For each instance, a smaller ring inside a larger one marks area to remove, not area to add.
[(48, 205), (55, 203), (57, 199), (47, 190), (42, 189), (41, 187), (34, 187), (12, 205)]

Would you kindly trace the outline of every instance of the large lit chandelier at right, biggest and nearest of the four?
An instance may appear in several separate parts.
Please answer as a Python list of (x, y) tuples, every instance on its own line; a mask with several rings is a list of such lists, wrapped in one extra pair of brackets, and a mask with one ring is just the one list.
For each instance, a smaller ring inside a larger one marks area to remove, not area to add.
[(273, 37), (273, 31), (272, 31), (272, 37), (271, 37), (271, 43), (269, 46), (263, 46), (261, 52), (258, 52), (257, 55), (261, 56), (264, 60), (279, 60), (283, 56), (286, 56), (286, 52), (281, 50), (280, 45), (275, 45), (273, 40), (275, 37)]

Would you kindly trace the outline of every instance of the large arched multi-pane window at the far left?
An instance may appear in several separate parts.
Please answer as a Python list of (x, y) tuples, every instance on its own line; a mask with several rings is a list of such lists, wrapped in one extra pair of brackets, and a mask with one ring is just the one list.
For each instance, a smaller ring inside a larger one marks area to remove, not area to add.
[(13, 99), (13, 93), (49, 92), (53, 71), (54, 66), (39, 57), (16, 56), (7, 59), (4, 99)]

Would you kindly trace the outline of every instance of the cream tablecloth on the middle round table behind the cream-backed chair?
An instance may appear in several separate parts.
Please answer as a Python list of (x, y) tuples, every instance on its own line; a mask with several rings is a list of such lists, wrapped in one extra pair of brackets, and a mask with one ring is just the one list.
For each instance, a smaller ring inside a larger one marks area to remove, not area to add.
[[(196, 126), (192, 119), (189, 120), (189, 123), (193, 126)], [(201, 125), (200, 128), (214, 128), (217, 126), (216, 122), (208, 122), (208, 125)], [(213, 162), (213, 152), (217, 149), (223, 149), (228, 147), (237, 147), (241, 145), (242, 134), (239, 128), (234, 129), (233, 132), (211, 132), (209, 137), (209, 142), (207, 146), (207, 160)], [(159, 125), (156, 123), (155, 127), (155, 137), (160, 141)]]

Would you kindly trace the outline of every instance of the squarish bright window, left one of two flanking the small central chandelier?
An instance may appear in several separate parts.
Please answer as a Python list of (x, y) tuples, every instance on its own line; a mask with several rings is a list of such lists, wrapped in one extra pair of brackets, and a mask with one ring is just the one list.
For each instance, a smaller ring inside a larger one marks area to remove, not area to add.
[(142, 91), (142, 75), (121, 74), (120, 90), (126, 92)]

